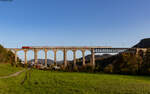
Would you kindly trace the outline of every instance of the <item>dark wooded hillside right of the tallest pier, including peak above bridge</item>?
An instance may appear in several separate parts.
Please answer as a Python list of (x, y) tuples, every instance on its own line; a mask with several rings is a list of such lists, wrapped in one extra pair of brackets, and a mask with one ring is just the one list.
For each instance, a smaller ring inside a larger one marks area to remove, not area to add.
[[(133, 48), (150, 48), (150, 38), (142, 39)], [(150, 75), (149, 52), (150, 50), (138, 57), (133, 53), (120, 53), (103, 60), (96, 60), (96, 69), (107, 73)]]

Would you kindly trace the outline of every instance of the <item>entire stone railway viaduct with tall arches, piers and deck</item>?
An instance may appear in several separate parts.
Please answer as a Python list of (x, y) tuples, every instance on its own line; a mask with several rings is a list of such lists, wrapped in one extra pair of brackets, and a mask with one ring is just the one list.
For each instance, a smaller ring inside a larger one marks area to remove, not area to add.
[(24, 58), (25, 58), (25, 64), (28, 63), (27, 61), (27, 52), (32, 50), (34, 52), (34, 64), (36, 65), (38, 63), (38, 56), (37, 53), (40, 50), (43, 50), (45, 52), (45, 66), (47, 66), (47, 52), (49, 50), (52, 50), (54, 52), (54, 65), (57, 65), (57, 61), (56, 61), (56, 53), (57, 51), (61, 50), (63, 51), (63, 58), (64, 58), (64, 67), (67, 67), (67, 51), (68, 50), (72, 50), (73, 52), (73, 62), (74, 62), (74, 66), (76, 66), (76, 51), (80, 50), (82, 52), (82, 65), (86, 66), (85, 63), (85, 51), (89, 50), (91, 51), (91, 65), (93, 67), (95, 67), (95, 53), (122, 53), (122, 52), (132, 52), (135, 53), (136, 55), (139, 54), (140, 51), (146, 53), (147, 48), (112, 48), (112, 47), (102, 47), (102, 46), (93, 46), (93, 47), (89, 47), (89, 46), (84, 46), (84, 47), (77, 47), (77, 46), (59, 46), (59, 47), (49, 47), (49, 46), (44, 46), (44, 47), (40, 47), (40, 46), (30, 46), (30, 47), (22, 47), (22, 48), (7, 48), (8, 50), (11, 50), (14, 54), (15, 54), (15, 62), (17, 62), (18, 60), (18, 56), (17, 56), (17, 52), (18, 51), (24, 51)]

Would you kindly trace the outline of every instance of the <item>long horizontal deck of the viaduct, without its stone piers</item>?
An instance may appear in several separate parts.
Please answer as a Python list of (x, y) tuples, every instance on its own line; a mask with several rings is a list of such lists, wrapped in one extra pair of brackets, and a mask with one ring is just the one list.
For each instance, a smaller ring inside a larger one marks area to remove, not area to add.
[(8, 48), (9, 50), (53, 50), (53, 49), (66, 49), (66, 50), (83, 50), (88, 49), (94, 51), (94, 53), (119, 53), (119, 52), (135, 52), (136, 48), (112, 48), (112, 47), (104, 47), (104, 46), (24, 46), (24, 48)]

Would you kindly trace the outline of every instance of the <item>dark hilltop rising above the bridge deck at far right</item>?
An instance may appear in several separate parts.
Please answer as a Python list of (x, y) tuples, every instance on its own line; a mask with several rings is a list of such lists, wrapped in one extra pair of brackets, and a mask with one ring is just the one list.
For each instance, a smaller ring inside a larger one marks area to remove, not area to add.
[(133, 46), (133, 48), (150, 48), (150, 38), (142, 39), (138, 44)]

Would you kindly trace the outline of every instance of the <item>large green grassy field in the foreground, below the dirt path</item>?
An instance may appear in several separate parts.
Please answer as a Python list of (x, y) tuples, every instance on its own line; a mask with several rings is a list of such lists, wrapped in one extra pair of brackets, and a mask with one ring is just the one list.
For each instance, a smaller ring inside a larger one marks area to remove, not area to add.
[(150, 77), (30, 70), (0, 79), (0, 94), (150, 94)]

